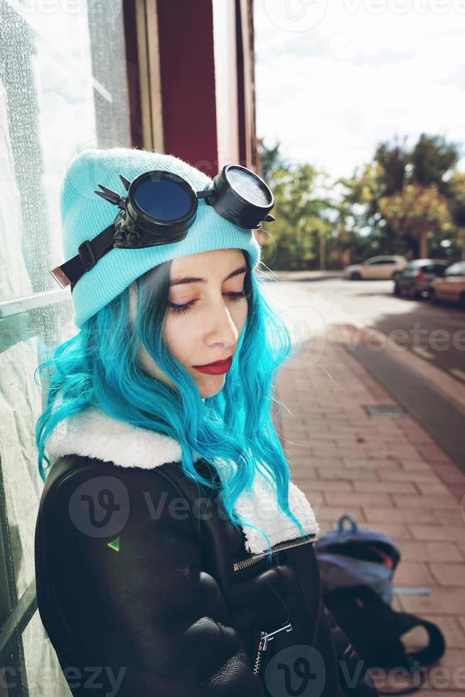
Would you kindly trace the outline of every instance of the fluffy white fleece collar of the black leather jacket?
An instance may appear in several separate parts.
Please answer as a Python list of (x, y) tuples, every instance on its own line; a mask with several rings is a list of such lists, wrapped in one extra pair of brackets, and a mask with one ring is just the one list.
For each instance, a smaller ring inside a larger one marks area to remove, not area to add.
[[(136, 427), (108, 416), (99, 408), (86, 410), (58, 423), (46, 441), (50, 462), (67, 454), (95, 457), (119, 467), (151, 469), (166, 462), (181, 462), (177, 440), (147, 428)], [(194, 452), (196, 461), (199, 455)], [(220, 461), (215, 461), (220, 464)], [(289, 483), (289, 508), (301, 521), (307, 535), (320, 528), (311, 504), (301, 489)], [(300, 536), (299, 528), (277, 506), (275, 489), (257, 472), (252, 491), (242, 491), (235, 512), (267, 533), (272, 545)], [(246, 549), (252, 553), (267, 549), (262, 534), (245, 526)]]

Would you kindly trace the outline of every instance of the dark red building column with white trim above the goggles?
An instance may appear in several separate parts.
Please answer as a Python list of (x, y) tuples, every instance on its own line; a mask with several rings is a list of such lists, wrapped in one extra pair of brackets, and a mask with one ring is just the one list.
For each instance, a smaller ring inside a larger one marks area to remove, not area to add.
[(255, 167), (252, 0), (157, 0), (164, 151)]

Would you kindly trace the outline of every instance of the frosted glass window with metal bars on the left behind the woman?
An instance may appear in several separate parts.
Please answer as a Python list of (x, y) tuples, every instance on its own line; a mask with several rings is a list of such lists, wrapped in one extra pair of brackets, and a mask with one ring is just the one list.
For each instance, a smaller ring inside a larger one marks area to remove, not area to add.
[(47, 346), (76, 331), (69, 289), (49, 273), (64, 260), (68, 164), (88, 147), (132, 146), (122, 3), (0, 0), (0, 26), (0, 693), (62, 697), (70, 690), (35, 602), (33, 373)]

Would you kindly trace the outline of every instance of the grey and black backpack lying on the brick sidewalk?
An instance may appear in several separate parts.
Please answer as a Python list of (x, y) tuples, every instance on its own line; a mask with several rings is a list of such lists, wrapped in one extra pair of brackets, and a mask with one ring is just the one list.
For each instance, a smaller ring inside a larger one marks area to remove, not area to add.
[[(344, 528), (346, 520), (351, 523), (349, 532)], [(444, 654), (444, 635), (433, 622), (390, 606), (394, 595), (392, 575), (400, 561), (395, 543), (383, 533), (359, 528), (346, 514), (339, 519), (336, 530), (328, 531), (316, 542), (315, 553), (324, 603), (368, 670), (383, 667), (412, 671), (413, 686), (378, 692), (407, 694), (422, 688), (424, 667)], [(429, 644), (407, 653), (400, 637), (417, 626), (424, 627)]]

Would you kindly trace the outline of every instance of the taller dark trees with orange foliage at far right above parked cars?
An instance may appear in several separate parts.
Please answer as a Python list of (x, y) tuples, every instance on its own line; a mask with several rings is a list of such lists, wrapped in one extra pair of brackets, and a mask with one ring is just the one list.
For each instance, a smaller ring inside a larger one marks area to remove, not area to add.
[[(358, 230), (379, 241), (377, 254), (420, 254), (458, 257), (464, 225), (463, 181), (451, 168), (459, 160), (459, 144), (421, 134), (409, 150), (403, 142), (379, 144), (373, 162), (361, 174), (339, 179), (343, 203), (358, 211)], [(449, 179), (448, 179), (448, 175)], [(447, 252), (442, 239), (451, 240)], [(427, 242), (425, 242), (427, 240)]]

